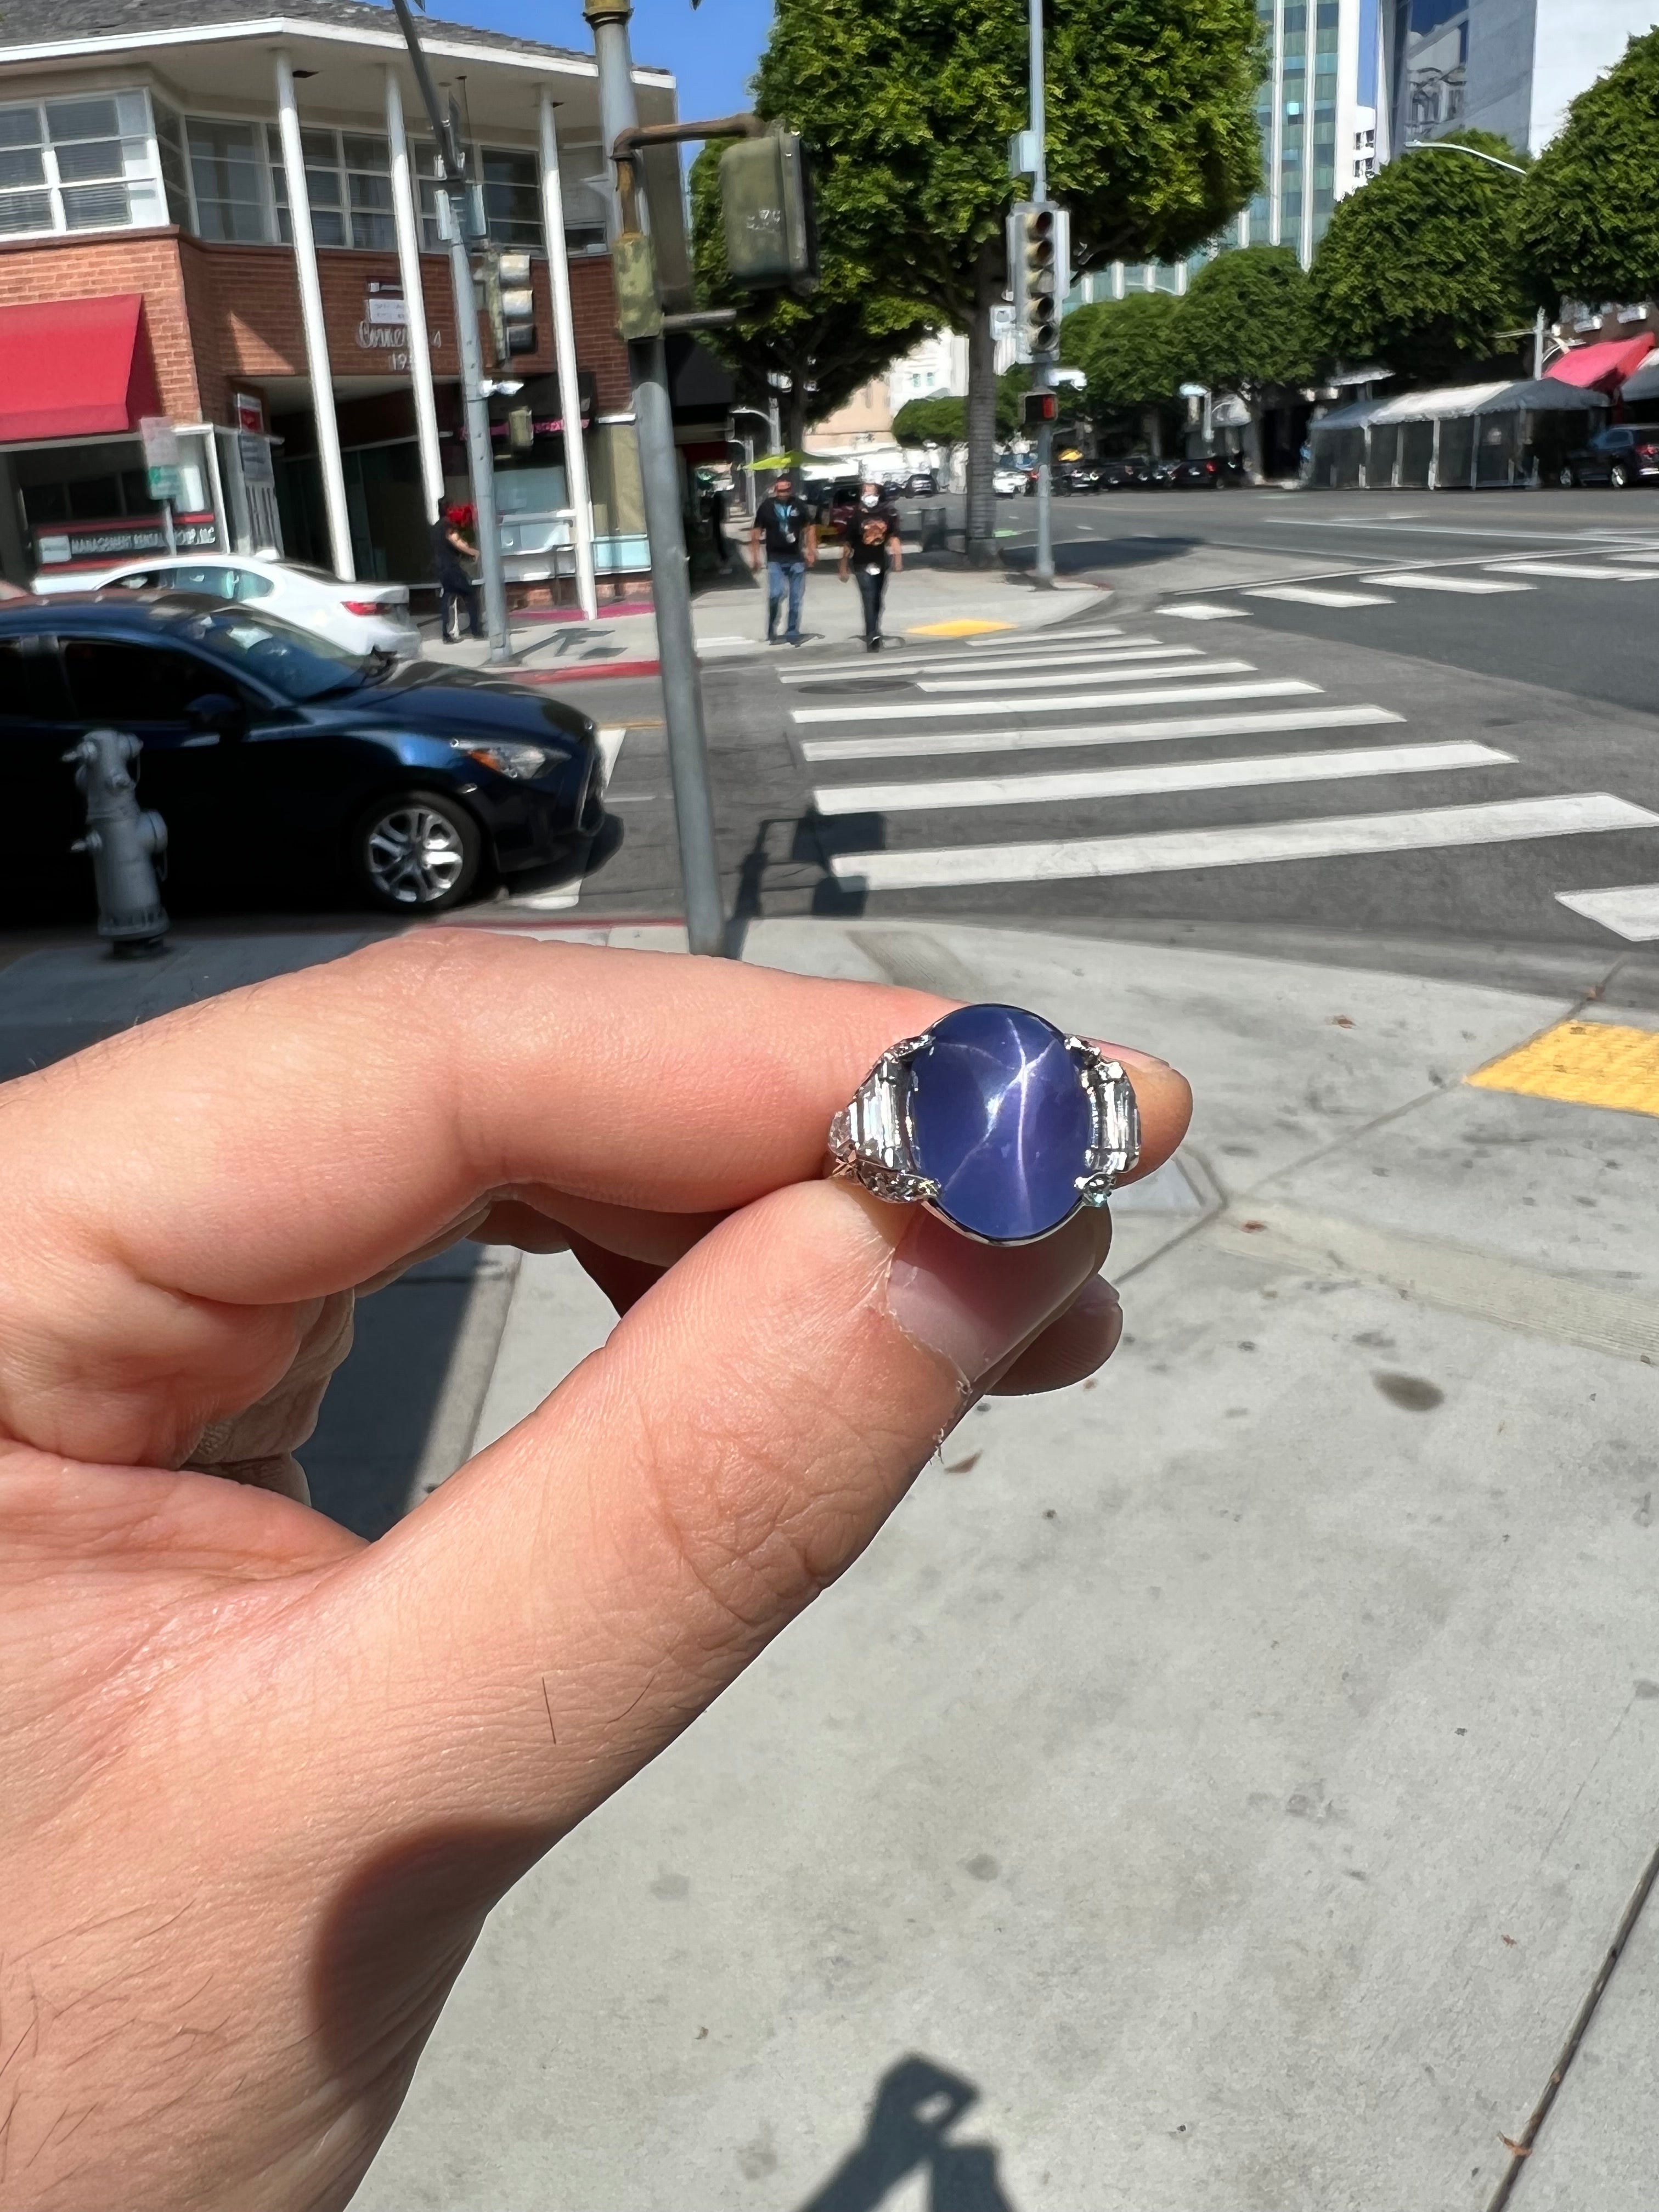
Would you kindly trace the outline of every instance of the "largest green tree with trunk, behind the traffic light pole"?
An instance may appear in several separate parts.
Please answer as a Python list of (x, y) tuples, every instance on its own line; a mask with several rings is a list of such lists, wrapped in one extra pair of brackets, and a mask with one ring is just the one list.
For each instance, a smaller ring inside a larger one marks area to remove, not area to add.
[[(1259, 188), (1254, 0), (1051, 0), (1048, 188), (1073, 263), (1175, 257)], [(969, 334), (969, 557), (995, 557), (991, 307), (1024, 0), (776, 0), (761, 115), (814, 150), (818, 228)]]

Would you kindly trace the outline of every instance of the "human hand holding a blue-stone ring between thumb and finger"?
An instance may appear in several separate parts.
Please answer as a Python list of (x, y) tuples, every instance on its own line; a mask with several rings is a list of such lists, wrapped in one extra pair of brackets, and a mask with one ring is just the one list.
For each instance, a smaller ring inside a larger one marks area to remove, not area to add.
[[(0, 2205), (345, 2205), (495, 1898), (975, 1391), (1108, 1356), (1102, 1214), (987, 1250), (818, 1177), (940, 1011), (422, 933), (0, 1091)], [(1113, 1051), (1155, 1168), (1186, 1084)], [(624, 1318), (363, 1544), (292, 1447), (352, 1285), (469, 1234)]]

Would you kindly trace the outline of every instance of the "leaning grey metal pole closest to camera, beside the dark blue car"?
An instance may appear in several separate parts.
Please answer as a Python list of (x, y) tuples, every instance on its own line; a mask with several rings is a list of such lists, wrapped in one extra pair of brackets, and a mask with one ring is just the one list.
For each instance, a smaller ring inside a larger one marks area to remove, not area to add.
[[(639, 122), (628, 53), (630, 0), (584, 0), (599, 64), (599, 131), (606, 155), (619, 133)], [(644, 204), (644, 164), (635, 161), (635, 186)], [(606, 228), (622, 228), (615, 181), (606, 195)], [(650, 595), (657, 606), (657, 657), (661, 661), (664, 721), (668, 726), (668, 772), (675, 785), (679, 832), (679, 876), (686, 891), (686, 933), (695, 953), (726, 951), (726, 905), (714, 854), (714, 801), (708, 790), (708, 739), (703, 692), (697, 677), (697, 639), (690, 619), (690, 568), (679, 504), (679, 460), (668, 398), (668, 356), (661, 338), (628, 345), (639, 473), (646, 491), (646, 535), (650, 540)]]

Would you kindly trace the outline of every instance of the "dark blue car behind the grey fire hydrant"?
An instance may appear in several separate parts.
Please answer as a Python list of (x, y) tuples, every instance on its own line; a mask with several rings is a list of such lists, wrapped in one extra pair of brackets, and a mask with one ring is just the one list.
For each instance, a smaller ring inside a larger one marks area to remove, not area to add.
[(440, 914), (529, 867), (575, 874), (604, 827), (580, 708), (438, 661), (367, 659), (263, 606), (97, 593), (0, 606), (0, 896), (62, 905), (82, 799), (64, 752), (95, 728), (142, 741), (139, 803), (173, 880), (292, 898), (338, 889)]

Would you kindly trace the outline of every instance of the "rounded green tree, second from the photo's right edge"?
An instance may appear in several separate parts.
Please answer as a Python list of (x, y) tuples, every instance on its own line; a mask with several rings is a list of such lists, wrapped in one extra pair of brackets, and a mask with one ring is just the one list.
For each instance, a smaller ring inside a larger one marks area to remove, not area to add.
[[(1493, 131), (1458, 144), (1524, 159)], [(1522, 179), (1449, 142), (1389, 161), (1332, 217), (1312, 268), (1314, 327), (1327, 352), (1385, 361), (1411, 383), (1444, 383), (1526, 321), (1513, 219)]]

